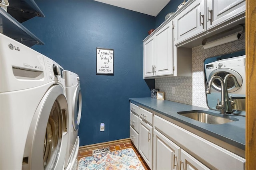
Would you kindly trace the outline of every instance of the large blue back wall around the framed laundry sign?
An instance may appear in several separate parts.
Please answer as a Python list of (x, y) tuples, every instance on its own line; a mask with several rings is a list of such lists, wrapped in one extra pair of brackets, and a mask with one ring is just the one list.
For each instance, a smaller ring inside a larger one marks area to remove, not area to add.
[[(36, 3), (45, 18), (23, 25), (45, 45), (32, 48), (80, 76), (80, 146), (128, 138), (128, 98), (150, 97), (143, 80), (142, 40), (155, 26), (155, 17), (92, 0)], [(114, 49), (114, 76), (96, 75), (96, 47)]]

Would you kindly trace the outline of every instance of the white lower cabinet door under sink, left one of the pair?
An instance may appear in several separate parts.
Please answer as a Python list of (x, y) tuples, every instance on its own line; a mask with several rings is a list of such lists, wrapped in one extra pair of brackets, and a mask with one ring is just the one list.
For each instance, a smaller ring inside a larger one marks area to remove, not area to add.
[(180, 147), (154, 129), (154, 170), (178, 170)]

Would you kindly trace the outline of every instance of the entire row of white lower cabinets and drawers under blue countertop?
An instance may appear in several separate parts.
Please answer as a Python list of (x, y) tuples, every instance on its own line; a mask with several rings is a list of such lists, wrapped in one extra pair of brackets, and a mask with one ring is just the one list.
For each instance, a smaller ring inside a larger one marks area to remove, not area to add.
[(154, 111), (138, 107), (138, 112), (130, 113), (130, 139), (151, 170), (244, 170), (244, 158)]

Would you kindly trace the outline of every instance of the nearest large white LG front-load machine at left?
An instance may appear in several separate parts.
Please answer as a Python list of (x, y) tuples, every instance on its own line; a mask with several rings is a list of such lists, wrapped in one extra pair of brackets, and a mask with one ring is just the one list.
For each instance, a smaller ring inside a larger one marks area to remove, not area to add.
[(0, 169), (64, 169), (68, 102), (62, 67), (0, 34)]

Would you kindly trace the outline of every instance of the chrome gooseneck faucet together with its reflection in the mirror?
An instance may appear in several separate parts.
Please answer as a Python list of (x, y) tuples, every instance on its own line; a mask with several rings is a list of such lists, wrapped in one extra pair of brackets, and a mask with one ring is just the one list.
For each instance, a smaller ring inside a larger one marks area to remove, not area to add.
[(241, 85), (237, 82), (237, 79), (236, 79), (236, 77), (233, 74), (227, 74), (224, 77), (224, 80), (220, 76), (213, 76), (210, 79), (209, 85), (208, 85), (208, 87), (206, 89), (206, 93), (207, 94), (211, 94), (212, 82), (215, 79), (218, 79), (220, 81), (220, 85), (221, 85), (221, 104), (220, 104), (220, 100), (218, 99), (218, 103), (216, 105), (216, 109), (220, 110), (220, 113), (222, 113), (222, 114), (231, 113), (233, 111), (232, 110), (232, 106), (234, 106), (234, 104), (236, 104), (235, 102), (232, 101), (232, 96), (230, 96), (230, 98), (228, 97), (227, 82), (228, 82), (228, 78), (229, 77), (233, 78), (235, 87), (241, 87)]

